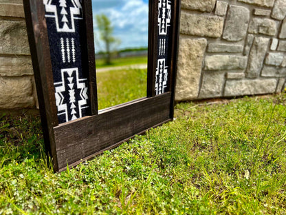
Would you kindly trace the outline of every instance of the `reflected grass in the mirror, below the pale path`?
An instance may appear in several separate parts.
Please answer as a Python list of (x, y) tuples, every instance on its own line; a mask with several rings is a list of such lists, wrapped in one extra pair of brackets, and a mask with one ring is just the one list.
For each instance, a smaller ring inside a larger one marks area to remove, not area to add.
[(147, 70), (98, 72), (98, 110), (146, 96)]

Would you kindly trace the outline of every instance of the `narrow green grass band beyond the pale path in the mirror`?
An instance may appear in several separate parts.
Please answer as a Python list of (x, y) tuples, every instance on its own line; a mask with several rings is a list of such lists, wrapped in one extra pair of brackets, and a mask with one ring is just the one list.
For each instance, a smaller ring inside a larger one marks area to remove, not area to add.
[(104, 59), (96, 60), (96, 68), (107, 68), (115, 66), (133, 65), (133, 64), (143, 64), (147, 65), (148, 57), (122, 57), (118, 59), (112, 59), (111, 64), (106, 64)]

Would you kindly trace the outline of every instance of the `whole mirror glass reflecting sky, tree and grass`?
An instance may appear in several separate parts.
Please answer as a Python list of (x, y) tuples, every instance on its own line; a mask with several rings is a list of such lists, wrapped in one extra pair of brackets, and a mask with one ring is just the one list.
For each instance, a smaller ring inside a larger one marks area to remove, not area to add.
[(148, 0), (92, 0), (98, 110), (146, 96)]

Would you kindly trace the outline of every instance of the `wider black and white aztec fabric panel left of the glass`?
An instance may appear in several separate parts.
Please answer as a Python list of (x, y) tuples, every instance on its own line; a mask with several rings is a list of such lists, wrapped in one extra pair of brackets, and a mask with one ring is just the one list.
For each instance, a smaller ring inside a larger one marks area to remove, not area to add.
[(81, 0), (43, 0), (54, 75), (58, 123), (91, 113)]

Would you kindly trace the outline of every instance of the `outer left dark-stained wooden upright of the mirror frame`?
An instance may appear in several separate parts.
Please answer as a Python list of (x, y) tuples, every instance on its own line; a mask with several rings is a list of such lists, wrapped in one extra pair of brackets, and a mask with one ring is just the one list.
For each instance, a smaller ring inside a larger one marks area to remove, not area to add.
[(54, 96), (54, 80), (50, 57), (47, 25), (45, 24), (45, 8), (43, 1), (23, 0), (25, 9), (28, 39), (36, 79), (36, 91), (39, 98), (41, 123), (45, 138), (45, 150), (54, 162), (54, 171), (58, 171), (56, 145), (53, 127), (58, 125), (56, 99)]

